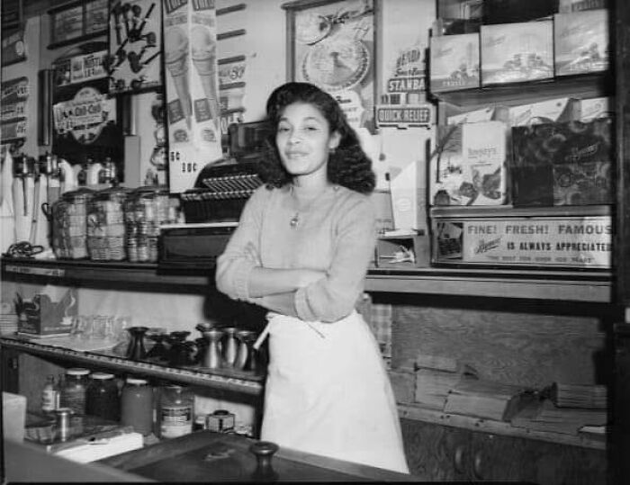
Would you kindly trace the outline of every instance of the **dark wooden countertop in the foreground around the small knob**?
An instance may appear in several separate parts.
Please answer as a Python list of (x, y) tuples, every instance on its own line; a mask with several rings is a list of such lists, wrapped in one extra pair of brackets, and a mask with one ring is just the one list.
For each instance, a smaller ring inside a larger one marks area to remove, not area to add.
[[(257, 475), (257, 459), (249, 451), (254, 443), (257, 441), (244, 436), (199, 431), (98, 463), (157, 481), (265, 481), (265, 477)], [(429, 480), (282, 447), (272, 459), (272, 468), (274, 481)]]

